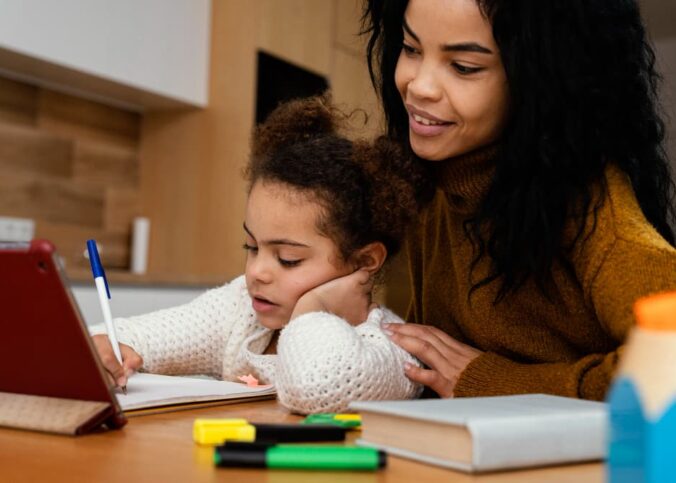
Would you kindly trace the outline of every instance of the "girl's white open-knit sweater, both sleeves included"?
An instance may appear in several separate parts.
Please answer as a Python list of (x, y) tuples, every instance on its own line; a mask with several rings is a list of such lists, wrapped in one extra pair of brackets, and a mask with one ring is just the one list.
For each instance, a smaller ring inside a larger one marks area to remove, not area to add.
[[(381, 308), (356, 327), (326, 312), (304, 314), (282, 329), (277, 355), (265, 355), (273, 331), (256, 320), (240, 276), (187, 304), (118, 318), (115, 328), (119, 341), (143, 357), (146, 372), (229, 381), (251, 373), (274, 384), (284, 406), (307, 414), (420, 394), (420, 385), (404, 374), (405, 362), (420, 363), (383, 334), (385, 321), (403, 323)], [(90, 332), (105, 333), (105, 326)]]

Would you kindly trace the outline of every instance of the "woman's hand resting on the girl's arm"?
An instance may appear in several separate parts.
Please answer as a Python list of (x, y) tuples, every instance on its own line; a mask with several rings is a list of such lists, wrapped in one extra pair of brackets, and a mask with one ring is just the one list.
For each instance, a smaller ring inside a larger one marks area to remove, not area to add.
[(390, 339), (420, 359), (429, 369), (413, 365), (405, 368), (414, 382), (429, 386), (440, 397), (453, 397), (455, 385), (467, 365), (482, 352), (458, 342), (444, 331), (429, 325), (383, 324)]

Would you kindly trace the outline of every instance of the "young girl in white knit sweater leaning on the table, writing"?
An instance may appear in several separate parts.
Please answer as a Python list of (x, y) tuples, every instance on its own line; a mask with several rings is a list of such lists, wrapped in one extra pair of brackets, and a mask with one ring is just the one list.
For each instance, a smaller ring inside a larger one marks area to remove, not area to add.
[[(135, 370), (249, 373), (276, 386), (299, 413), (342, 411), (354, 400), (403, 399), (420, 386), (416, 360), (383, 334), (392, 312), (351, 303), (345, 318), (322, 311), (324, 291), (361, 287), (400, 246), (417, 208), (417, 172), (394, 145), (352, 142), (325, 99), (280, 106), (253, 138), (244, 219), (245, 275), (175, 308), (115, 321), (123, 366), (102, 327), (93, 329), (119, 385)], [(388, 169), (382, 169), (382, 163)]]

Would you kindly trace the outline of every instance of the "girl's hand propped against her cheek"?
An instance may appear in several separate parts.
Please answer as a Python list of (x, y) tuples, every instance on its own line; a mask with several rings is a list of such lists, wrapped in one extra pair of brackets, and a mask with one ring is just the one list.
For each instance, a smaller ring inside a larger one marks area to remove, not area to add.
[(296, 302), (291, 320), (309, 312), (329, 312), (351, 325), (366, 320), (372, 308), (373, 281), (369, 271), (360, 269), (309, 290)]

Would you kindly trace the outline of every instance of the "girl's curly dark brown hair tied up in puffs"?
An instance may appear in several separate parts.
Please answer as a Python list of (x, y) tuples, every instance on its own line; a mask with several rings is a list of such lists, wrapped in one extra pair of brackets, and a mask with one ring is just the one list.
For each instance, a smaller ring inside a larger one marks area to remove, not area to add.
[(341, 134), (349, 118), (328, 95), (281, 104), (253, 134), (249, 190), (259, 181), (283, 183), (319, 202), (317, 228), (344, 260), (372, 242), (391, 258), (420, 208), (424, 173), (398, 143)]

